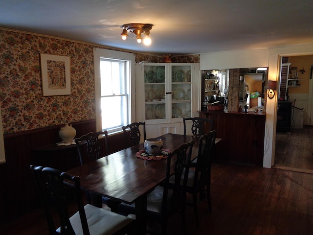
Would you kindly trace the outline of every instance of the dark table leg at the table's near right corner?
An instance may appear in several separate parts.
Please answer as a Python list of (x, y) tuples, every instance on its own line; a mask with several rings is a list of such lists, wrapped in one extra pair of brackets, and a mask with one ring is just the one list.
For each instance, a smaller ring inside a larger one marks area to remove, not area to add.
[(138, 222), (138, 234), (146, 235), (147, 230), (147, 195), (142, 195), (135, 201), (136, 220)]

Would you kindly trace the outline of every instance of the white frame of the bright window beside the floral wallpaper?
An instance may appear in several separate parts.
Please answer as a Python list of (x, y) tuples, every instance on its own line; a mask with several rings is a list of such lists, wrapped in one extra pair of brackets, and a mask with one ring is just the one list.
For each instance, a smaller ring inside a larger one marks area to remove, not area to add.
[[(101, 58), (115, 59), (115, 60), (127, 60), (129, 61), (129, 72), (127, 79), (127, 89), (129, 95), (129, 117), (130, 122), (135, 120), (135, 56), (133, 53), (107, 50), (101, 48), (94, 48), (94, 89), (95, 89), (95, 111), (96, 111), (96, 130), (102, 131), (102, 118), (101, 118), (101, 75), (100, 75), (100, 60)], [(107, 111), (108, 115), (110, 110)], [(122, 131), (122, 128), (114, 129), (108, 132)]]

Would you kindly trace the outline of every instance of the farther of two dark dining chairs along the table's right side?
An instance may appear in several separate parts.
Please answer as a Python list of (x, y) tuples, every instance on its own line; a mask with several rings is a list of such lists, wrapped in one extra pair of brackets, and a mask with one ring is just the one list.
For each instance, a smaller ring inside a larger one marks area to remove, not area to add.
[[(187, 205), (193, 206), (196, 224), (199, 227), (198, 215), (198, 196), (204, 198), (206, 193), (209, 211), (212, 211), (211, 205), (211, 159), (212, 150), (215, 144), (216, 131), (211, 130), (199, 138), (198, 157), (195, 167), (187, 169), (188, 177), (186, 192), (192, 194), (192, 203)], [(190, 162), (190, 159), (188, 159)], [(190, 166), (190, 164), (187, 163)]]

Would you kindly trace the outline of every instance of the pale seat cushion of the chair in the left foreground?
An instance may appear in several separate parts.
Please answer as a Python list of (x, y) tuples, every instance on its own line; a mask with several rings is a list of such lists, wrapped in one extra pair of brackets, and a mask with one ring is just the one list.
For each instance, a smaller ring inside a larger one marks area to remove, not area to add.
[[(90, 235), (112, 235), (134, 220), (126, 216), (105, 211), (101, 208), (87, 204), (84, 206)], [(76, 235), (83, 235), (82, 224), (77, 211), (70, 217), (70, 223)], [(60, 232), (60, 228), (57, 229)]]

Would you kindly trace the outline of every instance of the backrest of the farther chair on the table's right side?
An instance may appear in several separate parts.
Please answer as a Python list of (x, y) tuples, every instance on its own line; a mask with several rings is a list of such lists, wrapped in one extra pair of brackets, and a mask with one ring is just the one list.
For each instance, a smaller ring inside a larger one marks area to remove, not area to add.
[(211, 130), (199, 138), (198, 158), (195, 168), (193, 187), (203, 187), (211, 174), (212, 150), (215, 144), (216, 131)]

